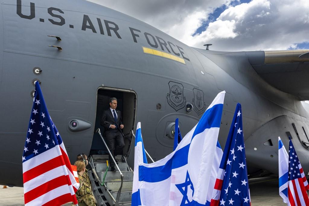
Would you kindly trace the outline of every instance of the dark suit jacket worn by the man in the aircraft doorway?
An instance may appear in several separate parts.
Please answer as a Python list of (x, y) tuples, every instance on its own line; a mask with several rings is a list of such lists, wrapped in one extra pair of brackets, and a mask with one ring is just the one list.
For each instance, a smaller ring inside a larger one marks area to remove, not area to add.
[(105, 134), (111, 132), (112, 130), (115, 130), (115, 129), (112, 129), (112, 128), (109, 127), (111, 124), (117, 125), (117, 129), (119, 129), (119, 131), (122, 133), (122, 131), (120, 130), (120, 125), (122, 124), (121, 111), (119, 111), (118, 109), (115, 109), (115, 111), (117, 113), (117, 121), (116, 122), (115, 122), (114, 115), (113, 115), (111, 109), (108, 108), (102, 114), (102, 118), (101, 118), (100, 123), (105, 129), (104, 130)]

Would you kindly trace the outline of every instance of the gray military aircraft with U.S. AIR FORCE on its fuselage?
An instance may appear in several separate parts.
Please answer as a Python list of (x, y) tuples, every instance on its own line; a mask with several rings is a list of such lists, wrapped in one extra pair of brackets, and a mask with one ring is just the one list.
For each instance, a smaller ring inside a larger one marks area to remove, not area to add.
[[(95, 133), (116, 97), (124, 133), (142, 122), (154, 160), (172, 152), (174, 121), (186, 134), (225, 90), (224, 147), (242, 104), (248, 174), (278, 174), (278, 136), (293, 138), (309, 171), (309, 50), (222, 52), (189, 47), (123, 13), (84, 0), (6, 0), (0, 21), (0, 184), (22, 186), (22, 154), (39, 81), (71, 162), (107, 154)], [(181, 31), (179, 31), (181, 32)], [(201, 42), (204, 44), (205, 42)], [(258, 48), (257, 48), (258, 49)], [(123, 151), (133, 166), (134, 139)]]

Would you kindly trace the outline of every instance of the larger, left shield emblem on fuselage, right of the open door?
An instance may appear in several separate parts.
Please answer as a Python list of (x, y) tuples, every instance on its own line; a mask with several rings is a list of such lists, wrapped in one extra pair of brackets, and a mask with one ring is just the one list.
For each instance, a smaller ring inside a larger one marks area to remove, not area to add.
[(186, 104), (186, 97), (184, 97), (184, 86), (177, 82), (170, 81), (168, 83), (170, 87), (170, 93), (167, 93), (167, 103), (173, 107), (176, 111), (184, 108)]

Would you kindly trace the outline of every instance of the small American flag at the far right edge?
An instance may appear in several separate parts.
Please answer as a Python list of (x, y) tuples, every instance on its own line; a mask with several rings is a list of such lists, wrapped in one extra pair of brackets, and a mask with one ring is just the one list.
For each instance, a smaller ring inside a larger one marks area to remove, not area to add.
[(288, 205), (309, 205), (307, 190), (309, 185), (302, 165), (298, 160), (292, 140), (289, 144), (289, 181), (288, 181)]

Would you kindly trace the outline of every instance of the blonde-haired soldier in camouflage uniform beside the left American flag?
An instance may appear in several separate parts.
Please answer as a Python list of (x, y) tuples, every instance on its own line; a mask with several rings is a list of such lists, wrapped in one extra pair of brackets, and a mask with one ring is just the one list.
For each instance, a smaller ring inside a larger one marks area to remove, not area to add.
[(87, 183), (86, 178), (83, 177), (83, 174), (86, 172), (86, 166), (83, 161), (76, 161), (74, 165), (77, 166), (77, 173), (79, 179), (79, 188), (76, 191), (75, 195), (78, 201), (79, 206), (95, 206), (95, 197), (91, 191), (91, 185)]

